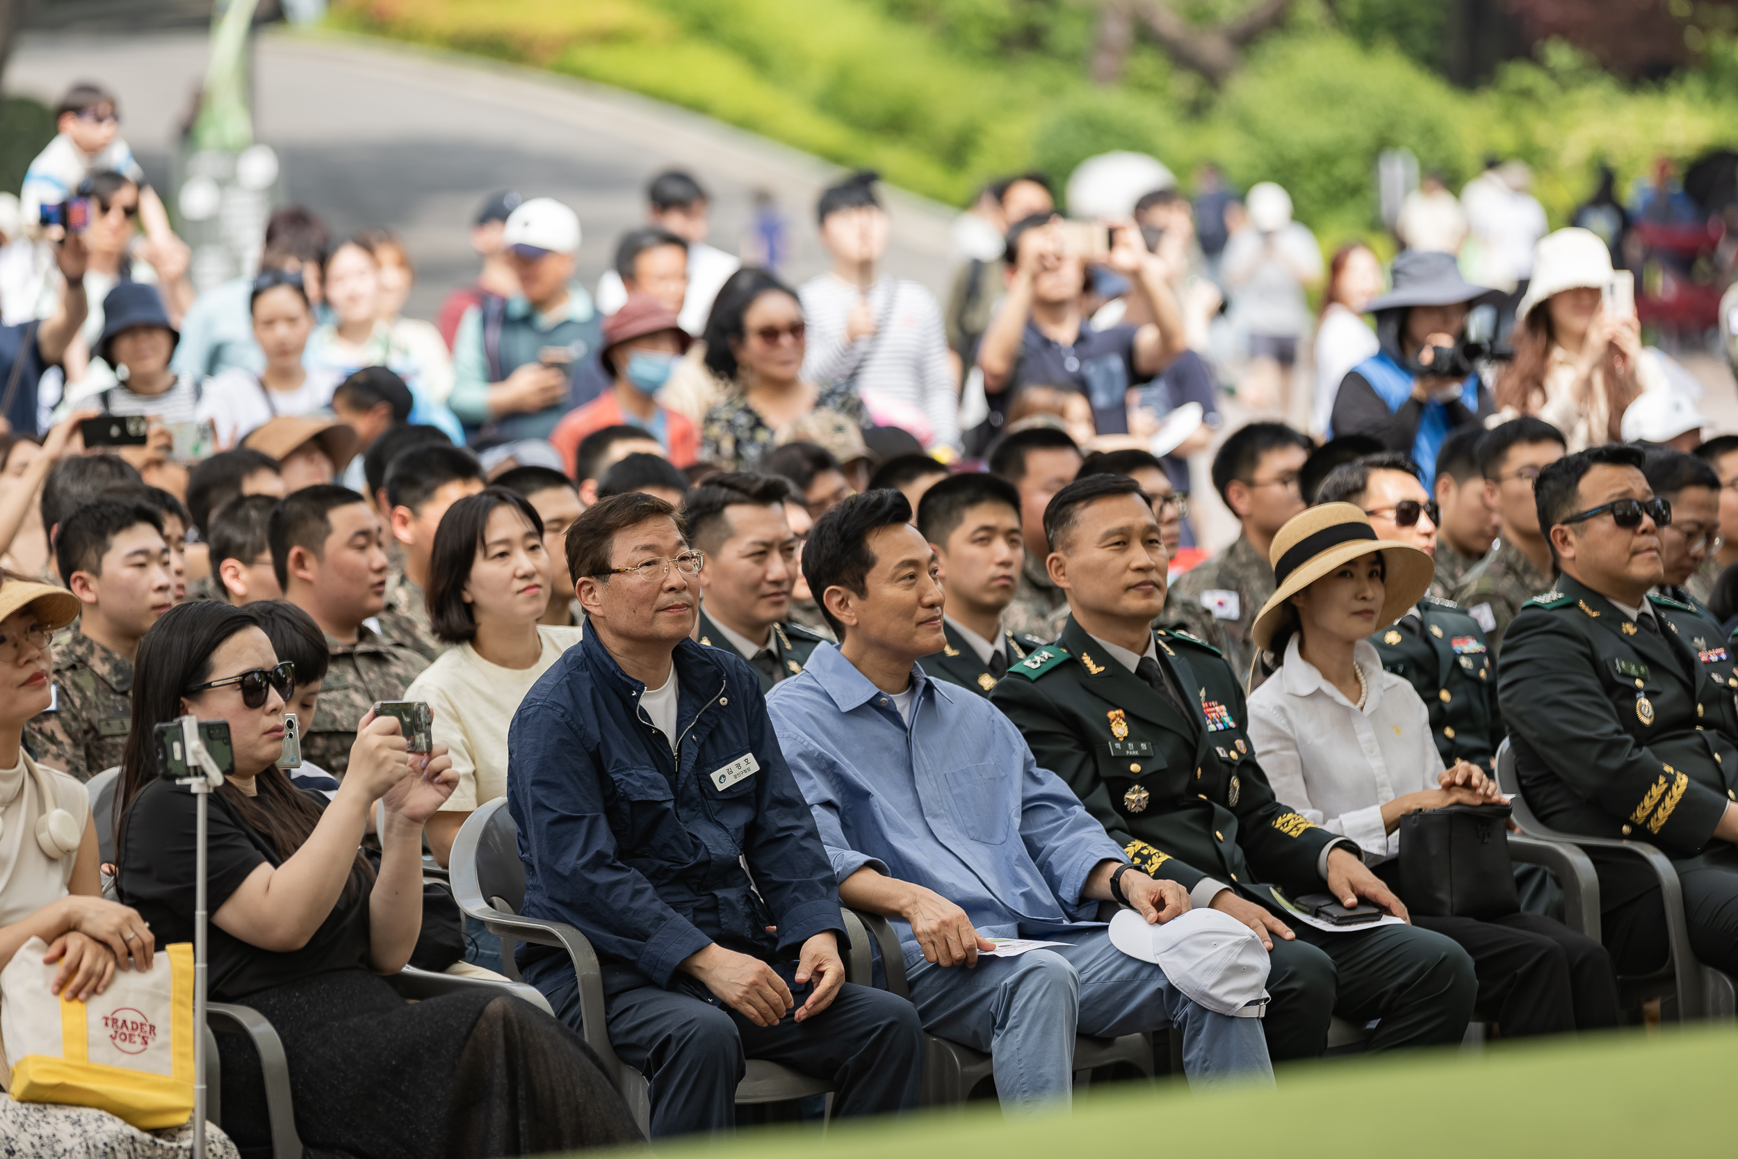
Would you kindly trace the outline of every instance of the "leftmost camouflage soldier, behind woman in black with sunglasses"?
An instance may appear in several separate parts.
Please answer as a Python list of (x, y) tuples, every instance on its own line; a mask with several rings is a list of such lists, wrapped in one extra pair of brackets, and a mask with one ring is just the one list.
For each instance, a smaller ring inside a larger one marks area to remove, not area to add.
[(120, 765), (132, 726), (132, 662), (174, 601), (174, 565), (162, 516), (120, 499), (68, 514), (56, 556), (82, 613), (57, 641), (54, 700), (26, 726), (24, 744), (40, 763), (90, 780)]

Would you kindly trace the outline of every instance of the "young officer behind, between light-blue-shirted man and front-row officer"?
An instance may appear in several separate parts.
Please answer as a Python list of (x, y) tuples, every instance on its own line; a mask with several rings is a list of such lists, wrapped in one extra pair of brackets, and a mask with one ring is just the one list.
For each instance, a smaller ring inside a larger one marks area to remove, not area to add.
[(918, 530), (935, 549), (947, 594), (947, 645), (918, 664), (935, 679), (987, 697), (1010, 664), (1045, 645), (1001, 622), (1025, 563), (1020, 492), (994, 474), (951, 474), (918, 502)]

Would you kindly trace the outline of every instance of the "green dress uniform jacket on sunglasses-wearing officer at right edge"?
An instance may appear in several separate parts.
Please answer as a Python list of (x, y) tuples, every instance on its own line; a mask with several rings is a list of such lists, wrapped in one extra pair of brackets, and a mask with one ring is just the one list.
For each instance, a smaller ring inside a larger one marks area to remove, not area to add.
[[(1738, 799), (1738, 744), (1719, 726), (1738, 674), (1724, 648), (1698, 655), (1686, 605), (1648, 601), (1660, 631), (1562, 575), (1516, 615), (1498, 697), (1521, 787), (1538, 818), (1564, 832), (1648, 841), (1681, 874), (1733, 867), (1733, 848), (1712, 838)], [(1637, 858), (1590, 855), (1602, 909), (1653, 886)]]

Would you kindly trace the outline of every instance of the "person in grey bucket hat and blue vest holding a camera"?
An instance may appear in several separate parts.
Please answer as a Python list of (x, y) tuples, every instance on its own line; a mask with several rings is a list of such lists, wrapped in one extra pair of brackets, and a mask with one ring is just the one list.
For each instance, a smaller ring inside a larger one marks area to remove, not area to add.
[(1423, 485), (1430, 487), (1443, 438), (1495, 414), (1477, 374), (1455, 365), (1458, 358), (1444, 374), (1439, 360), (1458, 349), (1469, 311), (1496, 304), (1502, 294), (1462, 278), (1453, 254), (1406, 250), (1389, 276), (1394, 288), (1368, 306), (1376, 315), (1382, 349), (1340, 382), (1328, 436), (1375, 434), (1389, 450), (1406, 452), (1423, 466)]

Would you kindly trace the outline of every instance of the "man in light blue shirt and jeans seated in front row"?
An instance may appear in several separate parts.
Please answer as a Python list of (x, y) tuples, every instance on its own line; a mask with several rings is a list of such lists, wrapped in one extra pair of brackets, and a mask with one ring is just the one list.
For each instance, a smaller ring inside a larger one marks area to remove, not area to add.
[[(1260, 1020), (1196, 1004), (1093, 921), (1105, 900), (1170, 921), (1184, 888), (1133, 869), (1001, 712), (918, 667), (942, 589), (909, 520), (878, 490), (815, 523), (803, 573), (841, 643), (766, 697), (839, 898), (892, 919), (925, 1029), (989, 1051), (1005, 1107), (1069, 1096), (1076, 1034), (1177, 1025), (1191, 1081), (1270, 1079)], [(982, 956), (1012, 937), (1058, 945)]]

